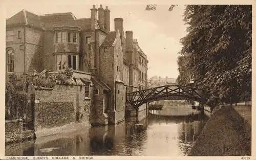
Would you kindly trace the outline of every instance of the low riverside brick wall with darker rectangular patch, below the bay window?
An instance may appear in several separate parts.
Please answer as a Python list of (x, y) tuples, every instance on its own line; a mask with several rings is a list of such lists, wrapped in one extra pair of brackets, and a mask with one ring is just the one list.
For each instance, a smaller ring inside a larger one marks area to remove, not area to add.
[(70, 122), (89, 122), (90, 101), (84, 100), (84, 86), (58, 85), (35, 90), (35, 132)]

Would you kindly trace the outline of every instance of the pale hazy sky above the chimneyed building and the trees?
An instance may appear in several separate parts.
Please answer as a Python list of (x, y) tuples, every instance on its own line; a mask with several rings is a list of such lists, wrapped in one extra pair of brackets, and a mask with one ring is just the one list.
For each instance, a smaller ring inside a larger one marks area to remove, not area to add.
[[(27, 3), (26, 3), (27, 2)], [(114, 30), (114, 18), (123, 18), (124, 32), (132, 30), (134, 39), (148, 58), (148, 78), (161, 76), (177, 78), (178, 52), (182, 45), (180, 39), (186, 33), (186, 27), (182, 20), (184, 5), (175, 7), (172, 12), (168, 11), (169, 5), (157, 5), (155, 11), (146, 11), (146, 4), (106, 4), (84, 3), (84, 1), (8, 1), (5, 4), (6, 18), (10, 18), (19, 11), (26, 9), (35, 14), (50, 14), (72, 12), (76, 18), (91, 17), (92, 5), (96, 8), (100, 4), (110, 9), (111, 31)], [(63, 3), (64, 2), (64, 3)], [(131, 1), (133, 2), (133, 1)]]

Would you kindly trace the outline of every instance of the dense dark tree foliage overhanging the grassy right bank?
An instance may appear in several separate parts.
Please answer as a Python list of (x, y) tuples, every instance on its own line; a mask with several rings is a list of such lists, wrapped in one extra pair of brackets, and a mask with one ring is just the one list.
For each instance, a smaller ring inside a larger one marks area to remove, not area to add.
[(250, 5), (187, 5), (179, 83), (192, 75), (196, 86), (225, 101), (251, 95), (251, 13)]

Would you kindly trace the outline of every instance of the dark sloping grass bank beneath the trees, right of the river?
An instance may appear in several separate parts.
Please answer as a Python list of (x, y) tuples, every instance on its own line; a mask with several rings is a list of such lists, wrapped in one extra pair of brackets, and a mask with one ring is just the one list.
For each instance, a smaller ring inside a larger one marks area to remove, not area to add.
[(232, 107), (216, 111), (189, 155), (251, 155), (251, 126)]

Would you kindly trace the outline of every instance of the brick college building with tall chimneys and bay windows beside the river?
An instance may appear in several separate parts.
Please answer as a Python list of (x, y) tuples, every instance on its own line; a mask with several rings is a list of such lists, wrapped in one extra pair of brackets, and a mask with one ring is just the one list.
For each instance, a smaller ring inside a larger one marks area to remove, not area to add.
[(6, 72), (72, 68), (86, 84), (84, 101), (93, 107), (92, 125), (119, 123), (124, 119), (125, 93), (147, 87), (148, 60), (133, 31), (124, 32), (123, 19), (114, 22), (115, 31), (110, 31), (110, 10), (102, 5), (93, 5), (88, 18), (22, 10), (6, 20)]

